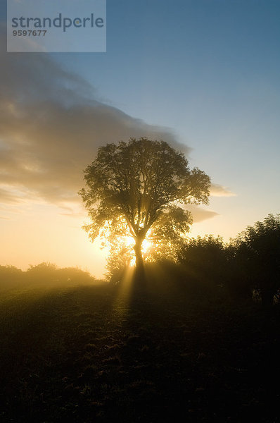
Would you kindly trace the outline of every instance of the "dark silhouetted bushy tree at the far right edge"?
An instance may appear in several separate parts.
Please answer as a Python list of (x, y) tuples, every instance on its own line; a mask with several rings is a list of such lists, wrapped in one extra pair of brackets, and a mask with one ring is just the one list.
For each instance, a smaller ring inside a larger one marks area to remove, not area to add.
[(280, 288), (280, 214), (248, 226), (231, 240), (231, 247), (244, 277), (260, 292), (262, 304), (272, 305)]

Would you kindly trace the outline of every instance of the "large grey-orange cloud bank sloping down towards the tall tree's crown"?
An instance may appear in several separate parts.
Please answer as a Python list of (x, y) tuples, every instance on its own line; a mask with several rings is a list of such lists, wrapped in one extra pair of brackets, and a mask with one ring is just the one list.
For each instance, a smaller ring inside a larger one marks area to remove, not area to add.
[[(176, 141), (172, 130), (148, 125), (98, 100), (88, 82), (65, 71), (51, 56), (6, 53), (2, 32), (0, 29), (2, 187), (63, 205), (79, 201), (82, 171), (100, 145), (147, 136), (189, 152)], [(12, 201), (7, 192), (0, 195), (2, 200)]]

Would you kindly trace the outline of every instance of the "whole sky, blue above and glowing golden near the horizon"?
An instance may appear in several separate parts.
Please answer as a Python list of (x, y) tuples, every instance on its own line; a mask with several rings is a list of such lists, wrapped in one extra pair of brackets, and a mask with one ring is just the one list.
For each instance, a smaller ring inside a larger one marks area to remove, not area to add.
[(191, 235), (280, 212), (280, 2), (107, 1), (104, 53), (7, 53), (0, 0), (0, 264), (100, 277), (77, 192), (100, 145), (148, 136), (212, 180)]

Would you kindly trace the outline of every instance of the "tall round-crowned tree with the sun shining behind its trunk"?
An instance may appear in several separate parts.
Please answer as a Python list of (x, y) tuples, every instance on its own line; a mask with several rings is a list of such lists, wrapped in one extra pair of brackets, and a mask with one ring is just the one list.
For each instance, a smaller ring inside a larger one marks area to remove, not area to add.
[(147, 235), (172, 240), (186, 233), (191, 214), (182, 205), (207, 204), (210, 188), (209, 176), (190, 170), (182, 152), (146, 137), (99, 147), (84, 179), (87, 188), (79, 194), (91, 219), (84, 226), (89, 237), (131, 236), (138, 268)]

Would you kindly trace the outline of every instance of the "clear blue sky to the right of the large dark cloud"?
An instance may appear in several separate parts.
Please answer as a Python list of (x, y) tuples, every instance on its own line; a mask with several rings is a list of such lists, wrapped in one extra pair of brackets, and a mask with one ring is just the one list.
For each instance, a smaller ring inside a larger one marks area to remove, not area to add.
[(172, 128), (191, 164), (236, 193), (211, 204), (233, 202), (240, 229), (278, 212), (279, 1), (108, 1), (107, 30), (106, 54), (54, 57), (101, 99)]

